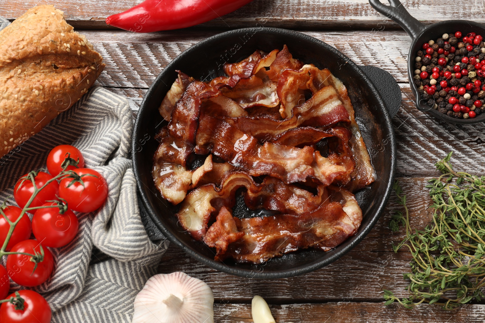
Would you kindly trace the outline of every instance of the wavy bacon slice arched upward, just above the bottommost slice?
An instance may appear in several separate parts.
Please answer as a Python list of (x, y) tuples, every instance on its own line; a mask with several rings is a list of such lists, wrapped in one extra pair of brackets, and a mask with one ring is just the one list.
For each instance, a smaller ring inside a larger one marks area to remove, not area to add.
[(273, 177), (265, 177), (262, 184), (257, 184), (247, 173), (236, 171), (229, 173), (220, 187), (203, 185), (187, 194), (177, 213), (179, 223), (195, 239), (201, 240), (206, 235), (211, 215), (222, 207), (232, 209), (240, 187), (246, 188), (244, 201), (248, 207), (291, 214), (314, 210), (328, 197), (324, 186), (318, 186), (317, 194), (313, 195)]

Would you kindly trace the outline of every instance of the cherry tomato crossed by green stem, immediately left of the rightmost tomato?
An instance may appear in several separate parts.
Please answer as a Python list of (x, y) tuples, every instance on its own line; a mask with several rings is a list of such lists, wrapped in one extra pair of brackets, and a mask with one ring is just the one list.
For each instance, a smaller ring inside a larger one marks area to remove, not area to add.
[[(18, 180), (17, 184), (14, 187), (14, 198), (18, 206), (20, 206), (21, 208), (23, 208), (25, 204), (27, 204), (33, 193), (33, 184), (30, 180), (30, 176), (28, 176), (27, 179), (25, 179), (24, 176), (22, 176)], [(53, 176), (50, 176), (48, 173), (39, 171), (37, 173), (37, 176), (35, 176), (34, 178), (35, 186), (37, 186), (37, 188), (40, 188), (52, 178)], [(47, 185), (39, 193), (37, 193), (29, 207), (41, 206), (47, 200), (57, 200), (56, 195), (58, 193), (59, 184), (57, 184), (57, 181), (52, 181), (49, 183), (49, 185)]]

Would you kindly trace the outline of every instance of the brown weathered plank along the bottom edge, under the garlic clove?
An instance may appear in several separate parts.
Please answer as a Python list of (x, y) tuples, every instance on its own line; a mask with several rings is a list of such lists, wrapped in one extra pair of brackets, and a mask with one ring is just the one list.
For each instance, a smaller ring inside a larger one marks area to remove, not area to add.
[[(383, 303), (364, 302), (270, 305), (270, 308), (276, 322), (305, 323), (481, 323), (485, 315), (485, 306), (479, 304), (469, 304), (453, 312), (433, 305), (410, 310), (397, 305), (387, 307)], [(252, 323), (251, 305), (216, 304), (214, 322)]]

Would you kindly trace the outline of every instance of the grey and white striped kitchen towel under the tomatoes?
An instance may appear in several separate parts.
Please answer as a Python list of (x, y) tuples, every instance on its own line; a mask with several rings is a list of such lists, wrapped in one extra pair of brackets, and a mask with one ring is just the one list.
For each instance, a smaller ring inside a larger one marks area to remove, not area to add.
[[(0, 29), (7, 24), (0, 19)], [(11, 205), (16, 205), (12, 195), (18, 178), (45, 168), (49, 151), (60, 144), (79, 148), (86, 167), (96, 169), (108, 182), (104, 206), (78, 214), (77, 237), (65, 247), (50, 249), (56, 263), (53, 276), (33, 288), (48, 300), (53, 323), (131, 322), (134, 298), (156, 273), (168, 247), (165, 239), (151, 242), (142, 223), (129, 159), (132, 130), (127, 99), (94, 87), (0, 159), (0, 200)], [(97, 255), (93, 256), (94, 246), (110, 257), (90, 265)], [(12, 282), (12, 290), (18, 289)]]

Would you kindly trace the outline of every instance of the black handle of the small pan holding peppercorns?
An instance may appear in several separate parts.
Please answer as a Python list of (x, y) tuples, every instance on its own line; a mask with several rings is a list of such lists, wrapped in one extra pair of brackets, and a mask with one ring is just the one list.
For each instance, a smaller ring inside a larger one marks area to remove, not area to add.
[(418, 19), (409, 15), (406, 9), (404, 9), (403, 4), (399, 0), (388, 0), (389, 6), (383, 4), (380, 0), (369, 0), (371, 6), (380, 12), (381, 14), (387, 16), (389, 19), (394, 20), (403, 27), (404, 31), (407, 32), (411, 38), (416, 39), (424, 30), (425, 25), (420, 23)]

